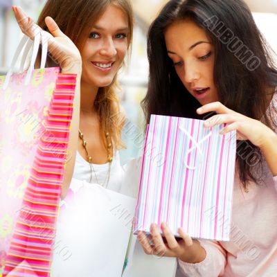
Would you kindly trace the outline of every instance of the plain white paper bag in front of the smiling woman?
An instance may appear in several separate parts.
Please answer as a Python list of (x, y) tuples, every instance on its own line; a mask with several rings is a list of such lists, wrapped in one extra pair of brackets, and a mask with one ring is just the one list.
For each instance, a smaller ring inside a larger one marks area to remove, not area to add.
[(135, 199), (73, 179), (57, 224), (53, 277), (120, 277)]

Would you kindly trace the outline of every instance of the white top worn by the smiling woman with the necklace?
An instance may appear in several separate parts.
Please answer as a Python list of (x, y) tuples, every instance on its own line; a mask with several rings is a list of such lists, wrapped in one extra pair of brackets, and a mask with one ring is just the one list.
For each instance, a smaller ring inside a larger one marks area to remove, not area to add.
[[(95, 172), (93, 172), (93, 169)], [(77, 151), (73, 179), (87, 181), (87, 183), (91, 184), (99, 183), (104, 188), (118, 192), (120, 190), (122, 178), (123, 169), (120, 166), (120, 157), (118, 151), (114, 152), (114, 159), (111, 162), (110, 172), (109, 163), (100, 165), (93, 163), (92, 166), (90, 166), (89, 162), (84, 160), (84, 158)], [(108, 179), (109, 181), (107, 183)]]

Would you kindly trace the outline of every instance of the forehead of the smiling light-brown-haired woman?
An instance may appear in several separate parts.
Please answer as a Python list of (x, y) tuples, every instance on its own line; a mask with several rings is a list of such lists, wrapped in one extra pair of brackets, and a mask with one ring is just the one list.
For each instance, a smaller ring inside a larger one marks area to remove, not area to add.
[(114, 27), (128, 27), (128, 18), (125, 12), (118, 6), (110, 4), (102, 15), (94, 22), (94, 26), (100, 26), (101, 28)]

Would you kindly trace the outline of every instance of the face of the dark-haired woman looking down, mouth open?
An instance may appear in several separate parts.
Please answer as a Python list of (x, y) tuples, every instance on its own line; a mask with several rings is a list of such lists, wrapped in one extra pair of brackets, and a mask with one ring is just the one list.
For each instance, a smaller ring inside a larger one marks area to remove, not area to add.
[(188, 19), (171, 24), (165, 32), (168, 56), (186, 89), (202, 105), (218, 100), (213, 79), (214, 47), (208, 36)]

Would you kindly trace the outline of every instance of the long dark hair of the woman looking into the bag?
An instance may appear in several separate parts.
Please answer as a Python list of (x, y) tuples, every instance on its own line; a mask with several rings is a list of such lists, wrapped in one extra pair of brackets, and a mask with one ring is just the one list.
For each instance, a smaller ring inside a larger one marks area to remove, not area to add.
[[(199, 118), (200, 104), (177, 76), (164, 38), (170, 24), (184, 19), (202, 28), (215, 47), (213, 75), (220, 102), (275, 129), (273, 113), (267, 108), (277, 85), (276, 65), (242, 0), (172, 0), (164, 6), (148, 32), (150, 77), (142, 102), (147, 122), (151, 114)], [(250, 141), (238, 141), (237, 162), (244, 188), (249, 181), (260, 183), (259, 148)]]

